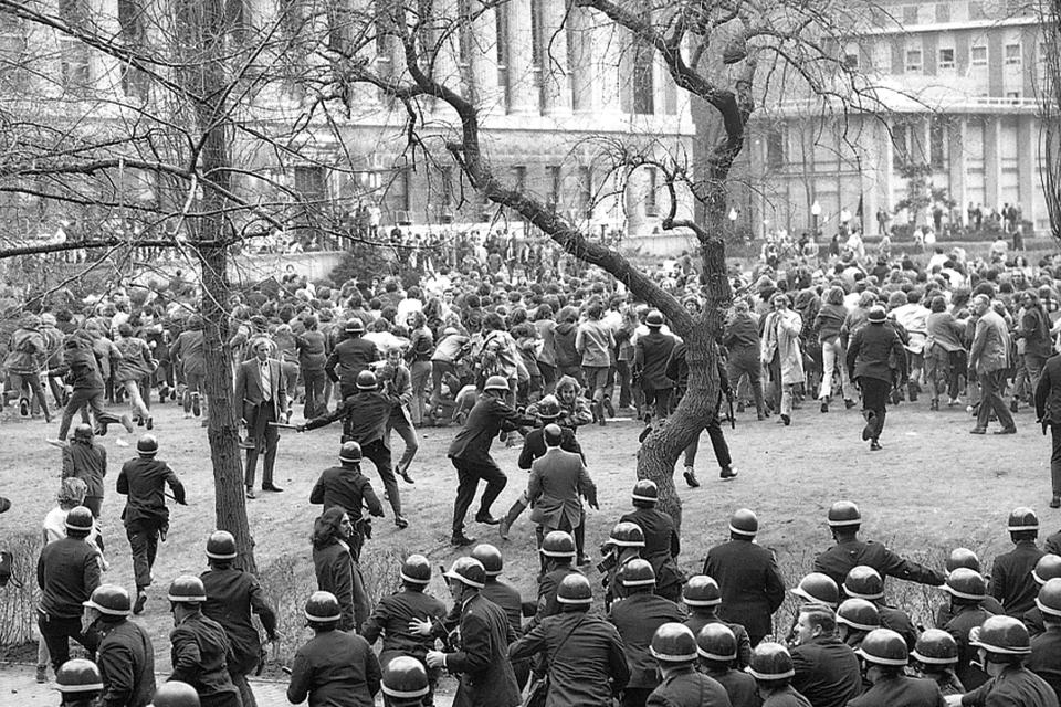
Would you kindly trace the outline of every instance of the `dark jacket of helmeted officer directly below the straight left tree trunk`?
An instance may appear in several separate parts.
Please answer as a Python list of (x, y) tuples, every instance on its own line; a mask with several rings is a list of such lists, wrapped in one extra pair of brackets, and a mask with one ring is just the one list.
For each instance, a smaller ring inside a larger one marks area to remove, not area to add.
[(276, 614), (265, 600), (265, 592), (253, 574), (231, 567), (207, 570), (199, 579), (207, 590), (202, 613), (221, 624), (232, 646), (229, 671), (237, 675), (250, 673), (262, 650), (251, 612), (259, 615), (270, 639), (276, 635)]

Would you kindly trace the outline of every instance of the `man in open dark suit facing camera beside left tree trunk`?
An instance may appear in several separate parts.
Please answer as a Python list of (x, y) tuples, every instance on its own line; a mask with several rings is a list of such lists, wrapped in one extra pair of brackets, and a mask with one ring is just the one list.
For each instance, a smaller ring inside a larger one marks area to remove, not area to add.
[[(273, 466), (276, 463), (276, 444), (280, 431), (275, 423), (287, 413), (287, 393), (280, 384), (283, 371), (280, 361), (270, 358), (272, 345), (269, 339), (254, 342), (254, 358), (243, 361), (235, 369), (234, 400), (243, 402), (243, 422), (246, 424), (246, 471), (244, 484), (246, 497), (254, 498), (254, 472), (258, 456), (265, 452), (262, 466), (262, 490), (283, 490), (273, 484)], [(286, 418), (285, 418), (286, 419)]]

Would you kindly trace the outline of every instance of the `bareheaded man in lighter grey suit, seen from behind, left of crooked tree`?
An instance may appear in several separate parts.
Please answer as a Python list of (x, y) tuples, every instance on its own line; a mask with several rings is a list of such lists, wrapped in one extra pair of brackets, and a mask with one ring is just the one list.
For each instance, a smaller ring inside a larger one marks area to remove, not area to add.
[(582, 457), (560, 449), (564, 432), (557, 424), (547, 424), (543, 431), (546, 452), (530, 465), (527, 498), (534, 508), (530, 520), (538, 524), (538, 547), (551, 530), (572, 532), (582, 523), (585, 496), (590, 507), (597, 505), (597, 486), (589, 477)]

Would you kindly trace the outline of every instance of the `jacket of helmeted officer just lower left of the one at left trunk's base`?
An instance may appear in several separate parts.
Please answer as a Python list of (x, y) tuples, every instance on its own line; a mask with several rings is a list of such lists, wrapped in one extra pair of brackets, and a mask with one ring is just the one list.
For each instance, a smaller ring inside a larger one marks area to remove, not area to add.
[(174, 672), (170, 680), (188, 683), (199, 697), (239, 695), (229, 676), (232, 650), (224, 629), (201, 613), (185, 618), (169, 634)]

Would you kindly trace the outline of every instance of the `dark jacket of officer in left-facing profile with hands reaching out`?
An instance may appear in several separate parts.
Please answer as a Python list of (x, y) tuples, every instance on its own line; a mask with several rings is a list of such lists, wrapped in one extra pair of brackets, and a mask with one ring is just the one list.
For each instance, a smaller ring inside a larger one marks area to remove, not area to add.
[(521, 704), (508, 644), (516, 634), (503, 609), (475, 594), (461, 606), (460, 646), (445, 654), (445, 667), (461, 674), (454, 704), (516, 707)]

